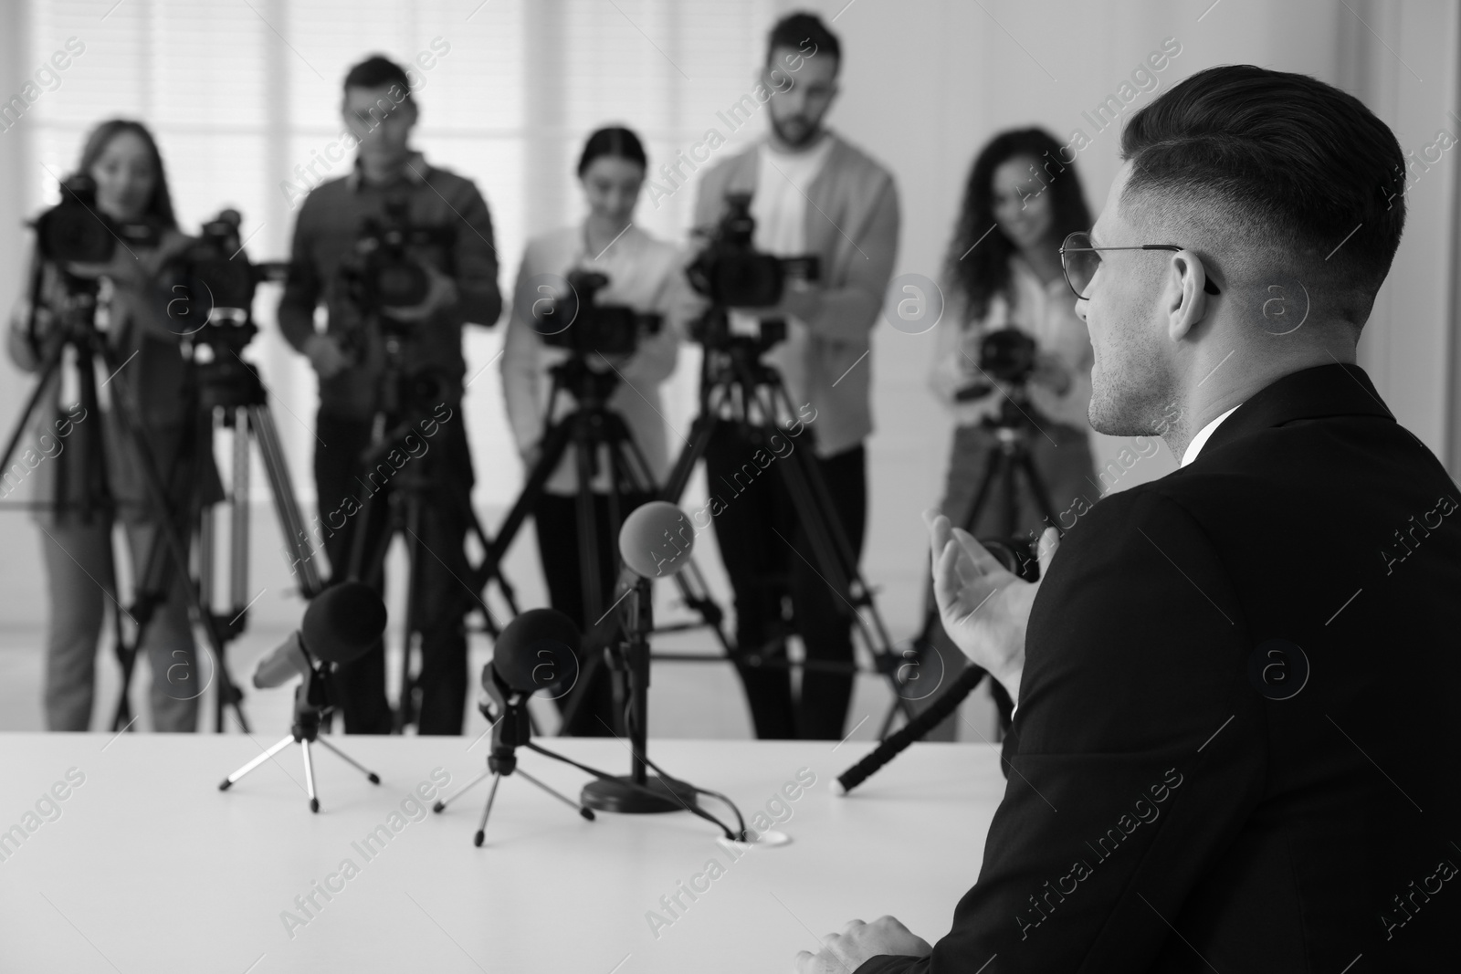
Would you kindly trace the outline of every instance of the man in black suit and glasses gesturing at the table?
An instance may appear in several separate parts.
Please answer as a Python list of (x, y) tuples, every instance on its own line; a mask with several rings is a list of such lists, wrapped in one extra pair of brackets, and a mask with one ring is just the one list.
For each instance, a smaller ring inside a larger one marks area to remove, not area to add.
[(1062, 251), (1090, 419), (1182, 469), (1048, 532), (1037, 584), (931, 520), (944, 625), (1018, 701), (1004, 802), (935, 946), (853, 921), (798, 970), (1457, 970), (1461, 489), (1354, 364), (1405, 159), (1251, 66), (1122, 156)]

